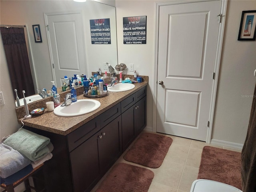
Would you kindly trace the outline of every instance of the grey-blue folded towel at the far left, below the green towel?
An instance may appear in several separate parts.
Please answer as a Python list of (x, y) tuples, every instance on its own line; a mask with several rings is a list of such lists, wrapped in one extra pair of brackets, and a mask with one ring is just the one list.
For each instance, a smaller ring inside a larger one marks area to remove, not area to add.
[(30, 160), (10, 146), (0, 144), (0, 176), (7, 178), (30, 164)]

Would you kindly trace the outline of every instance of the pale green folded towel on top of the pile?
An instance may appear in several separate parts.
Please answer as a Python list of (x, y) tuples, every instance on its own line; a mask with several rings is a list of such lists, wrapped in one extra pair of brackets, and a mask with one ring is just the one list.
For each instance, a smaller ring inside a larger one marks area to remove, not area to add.
[(4, 144), (14, 148), (31, 161), (36, 161), (48, 154), (49, 143), (49, 138), (26, 129), (17, 131), (4, 141)]

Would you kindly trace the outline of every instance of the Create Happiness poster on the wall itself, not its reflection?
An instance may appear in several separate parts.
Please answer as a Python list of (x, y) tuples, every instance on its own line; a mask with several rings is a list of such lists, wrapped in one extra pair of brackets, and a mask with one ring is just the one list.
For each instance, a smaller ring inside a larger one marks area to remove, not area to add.
[(123, 17), (124, 44), (146, 44), (147, 16)]

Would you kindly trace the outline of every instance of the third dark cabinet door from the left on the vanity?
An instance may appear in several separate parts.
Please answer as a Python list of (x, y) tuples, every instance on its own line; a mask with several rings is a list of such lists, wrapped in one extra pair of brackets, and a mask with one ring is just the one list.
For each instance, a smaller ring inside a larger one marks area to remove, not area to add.
[(134, 107), (131, 106), (128, 110), (122, 113), (122, 142), (123, 142), (123, 152), (128, 148), (135, 138), (134, 129)]

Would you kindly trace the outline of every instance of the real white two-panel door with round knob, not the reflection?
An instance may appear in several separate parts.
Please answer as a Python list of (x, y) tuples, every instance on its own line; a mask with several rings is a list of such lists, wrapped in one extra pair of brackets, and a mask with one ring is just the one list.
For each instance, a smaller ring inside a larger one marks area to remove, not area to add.
[(221, 0), (160, 6), (157, 132), (206, 141)]

